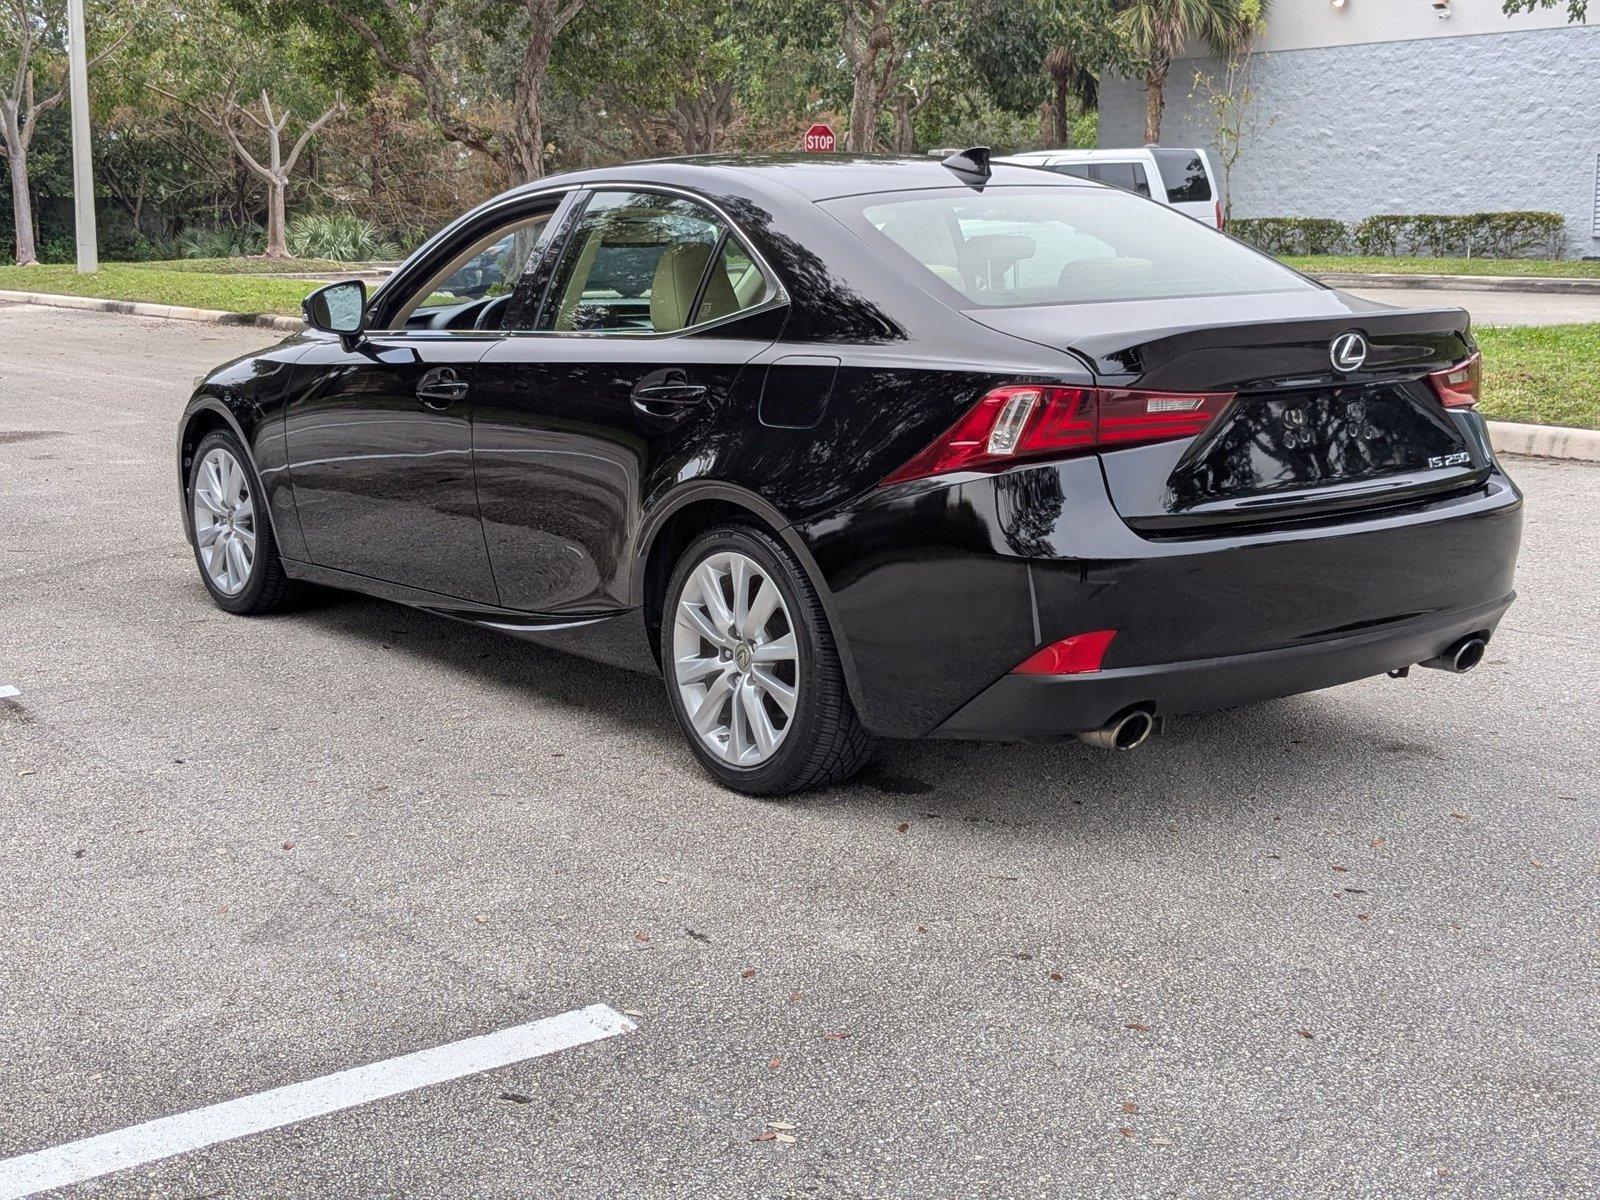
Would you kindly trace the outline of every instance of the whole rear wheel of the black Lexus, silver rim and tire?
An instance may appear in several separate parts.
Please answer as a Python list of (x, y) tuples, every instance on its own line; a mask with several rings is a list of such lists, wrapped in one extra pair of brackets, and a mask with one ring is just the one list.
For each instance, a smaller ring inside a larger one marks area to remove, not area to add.
[(667, 584), (661, 662), (694, 757), (734, 790), (827, 787), (872, 757), (822, 603), (760, 530), (718, 526), (683, 552)]

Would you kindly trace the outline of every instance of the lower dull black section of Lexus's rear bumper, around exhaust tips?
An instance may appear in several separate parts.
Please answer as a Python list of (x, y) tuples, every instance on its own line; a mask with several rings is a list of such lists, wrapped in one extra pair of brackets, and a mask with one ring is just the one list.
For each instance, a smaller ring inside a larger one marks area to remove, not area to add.
[(931, 736), (1048, 741), (1098, 730), (1134, 707), (1174, 717), (1352, 683), (1434, 658), (1467, 634), (1491, 635), (1512, 598), (1306, 646), (1091, 675), (1005, 675)]

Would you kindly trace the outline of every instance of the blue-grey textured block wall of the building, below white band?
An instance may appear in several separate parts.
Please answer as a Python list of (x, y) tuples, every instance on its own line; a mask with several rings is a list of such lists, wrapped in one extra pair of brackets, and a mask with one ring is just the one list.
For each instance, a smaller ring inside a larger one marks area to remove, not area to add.
[[(1195, 69), (1219, 64), (1173, 66), (1166, 146), (1213, 146)], [(1234, 216), (1541, 210), (1570, 254), (1600, 254), (1600, 26), (1266, 51), (1254, 83)], [(1144, 90), (1104, 80), (1099, 144), (1142, 141)]]

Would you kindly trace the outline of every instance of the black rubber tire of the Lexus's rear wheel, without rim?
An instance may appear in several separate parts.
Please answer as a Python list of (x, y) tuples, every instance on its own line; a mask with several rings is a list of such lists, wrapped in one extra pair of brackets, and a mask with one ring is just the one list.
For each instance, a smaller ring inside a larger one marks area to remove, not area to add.
[[(757, 766), (736, 766), (718, 758), (694, 731), (674, 674), (674, 621), (691, 573), (710, 555), (734, 550), (754, 558), (778, 584), (800, 646), (795, 710), (782, 742)], [(667, 702), (678, 728), (717, 782), (747, 795), (781, 797), (829, 787), (856, 774), (872, 758), (877, 744), (861, 726), (850, 702), (838, 648), (822, 611), (822, 602), (794, 555), (774, 538), (749, 525), (707, 530), (683, 550), (667, 582), (661, 613), (661, 662)]]

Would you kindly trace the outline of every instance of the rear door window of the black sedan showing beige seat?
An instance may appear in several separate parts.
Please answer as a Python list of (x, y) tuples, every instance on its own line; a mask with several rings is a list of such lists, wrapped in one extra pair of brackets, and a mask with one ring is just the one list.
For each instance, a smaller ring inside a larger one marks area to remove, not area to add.
[(760, 267), (704, 205), (595, 192), (562, 253), (538, 328), (672, 333), (765, 298)]

